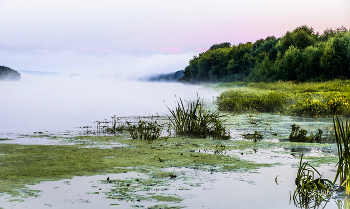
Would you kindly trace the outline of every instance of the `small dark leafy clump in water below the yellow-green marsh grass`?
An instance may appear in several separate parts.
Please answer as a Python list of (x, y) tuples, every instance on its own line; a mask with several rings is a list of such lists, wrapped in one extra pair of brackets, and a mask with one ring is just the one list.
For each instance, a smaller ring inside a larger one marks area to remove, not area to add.
[(289, 135), (289, 141), (291, 142), (321, 142), (323, 131), (321, 129), (318, 129), (318, 133), (314, 135), (311, 133), (309, 136), (306, 136), (307, 131), (305, 129), (300, 129), (299, 125), (291, 125), (292, 126), (292, 132)]

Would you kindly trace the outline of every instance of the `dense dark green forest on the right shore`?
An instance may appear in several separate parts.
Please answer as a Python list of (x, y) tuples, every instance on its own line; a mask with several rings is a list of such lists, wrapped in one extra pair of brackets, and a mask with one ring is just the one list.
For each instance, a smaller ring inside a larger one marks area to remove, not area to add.
[(271, 82), (325, 81), (350, 78), (350, 30), (315, 33), (300, 26), (283, 37), (269, 36), (231, 46), (225, 42), (194, 56), (179, 81)]

